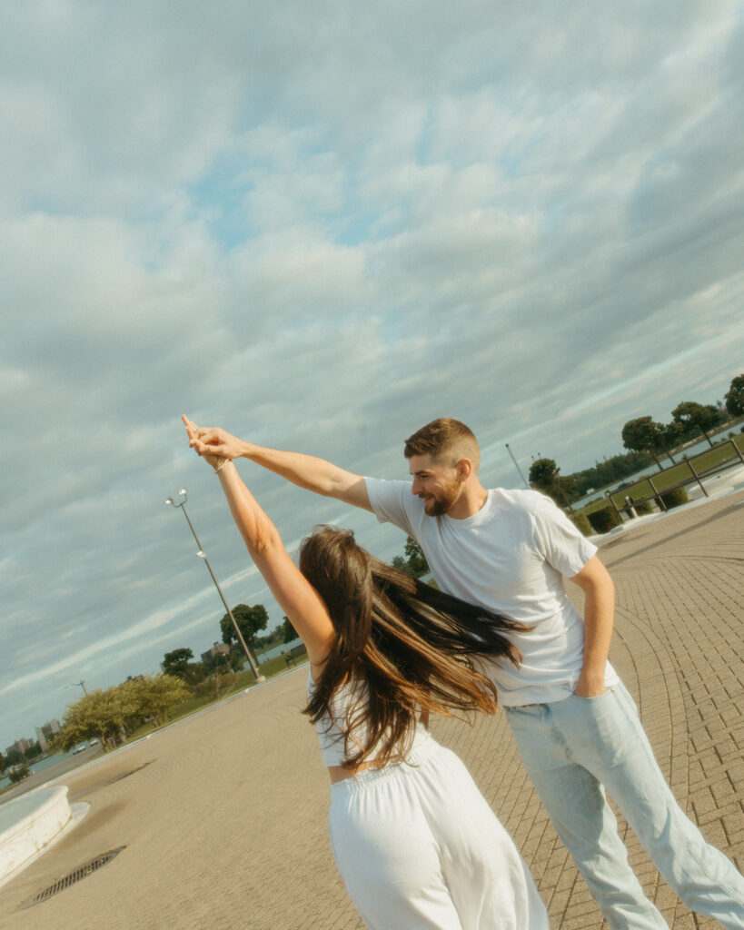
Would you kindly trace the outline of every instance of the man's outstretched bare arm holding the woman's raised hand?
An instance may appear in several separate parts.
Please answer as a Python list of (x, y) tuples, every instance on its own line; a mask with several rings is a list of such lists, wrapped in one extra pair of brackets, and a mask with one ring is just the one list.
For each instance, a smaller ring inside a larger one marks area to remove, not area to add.
[(257, 465), (276, 472), (291, 481), (326, 498), (337, 498), (354, 507), (371, 511), (365, 479), (346, 472), (324, 458), (306, 456), (301, 452), (283, 452), (255, 445), (219, 429), (193, 427), (191, 445), (199, 455), (211, 454), (221, 458), (249, 458)]

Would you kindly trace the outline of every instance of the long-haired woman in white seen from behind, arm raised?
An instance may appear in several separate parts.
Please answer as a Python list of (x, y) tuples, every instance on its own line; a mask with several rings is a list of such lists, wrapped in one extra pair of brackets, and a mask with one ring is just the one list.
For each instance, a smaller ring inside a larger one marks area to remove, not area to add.
[(210, 455), (207, 434), (183, 421), (307, 646), (306, 712), (331, 780), (331, 844), (366, 926), (548, 930), (511, 838), (458, 757), (421, 723), (430, 711), (496, 711), (472, 657), (517, 662), (504, 631), (519, 625), (379, 562), (350, 531), (316, 529), (298, 569), (233, 462)]

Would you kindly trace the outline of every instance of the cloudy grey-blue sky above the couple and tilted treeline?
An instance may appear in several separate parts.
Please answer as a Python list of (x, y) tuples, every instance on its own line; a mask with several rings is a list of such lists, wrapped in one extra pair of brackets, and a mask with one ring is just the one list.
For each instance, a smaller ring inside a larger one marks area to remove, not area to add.
[[(0, 4), (0, 750), (282, 616), (182, 413), (405, 478), (622, 452), (744, 370), (733, 0)], [(249, 462), (287, 546), (405, 539)]]

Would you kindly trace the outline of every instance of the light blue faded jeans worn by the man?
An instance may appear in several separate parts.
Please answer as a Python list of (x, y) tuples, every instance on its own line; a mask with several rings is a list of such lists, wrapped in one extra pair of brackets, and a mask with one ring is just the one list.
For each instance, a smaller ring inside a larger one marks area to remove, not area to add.
[(628, 864), (604, 788), (684, 904), (744, 930), (744, 879), (675, 801), (622, 684), (506, 711), (540, 800), (612, 930), (667, 923)]

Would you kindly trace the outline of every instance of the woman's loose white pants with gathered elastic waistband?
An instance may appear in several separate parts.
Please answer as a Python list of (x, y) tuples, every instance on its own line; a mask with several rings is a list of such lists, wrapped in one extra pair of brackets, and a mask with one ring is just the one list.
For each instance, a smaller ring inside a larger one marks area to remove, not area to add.
[(458, 756), (431, 738), (406, 764), (332, 785), (329, 828), (369, 930), (549, 930), (511, 837)]

